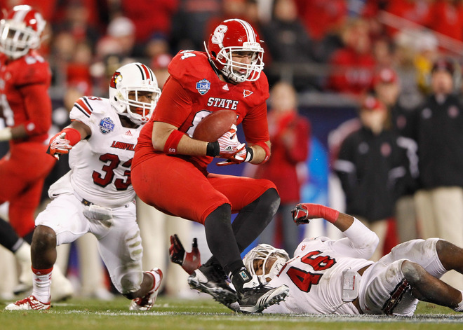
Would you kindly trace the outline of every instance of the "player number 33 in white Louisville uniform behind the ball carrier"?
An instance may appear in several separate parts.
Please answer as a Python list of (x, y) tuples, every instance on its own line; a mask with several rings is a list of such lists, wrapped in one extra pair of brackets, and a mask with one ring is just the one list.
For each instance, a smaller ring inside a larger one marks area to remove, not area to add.
[(32, 240), (32, 296), (7, 310), (50, 308), (56, 246), (86, 233), (98, 239), (114, 287), (132, 299), (130, 310), (149, 310), (162, 280), (158, 268), (142, 271), (142, 245), (135, 216), (130, 166), (142, 125), (161, 91), (151, 69), (130, 63), (114, 72), (109, 99), (81, 97), (72, 123), (55, 135), (49, 153), (69, 153), (71, 170), (49, 189), (52, 201), (36, 218)]

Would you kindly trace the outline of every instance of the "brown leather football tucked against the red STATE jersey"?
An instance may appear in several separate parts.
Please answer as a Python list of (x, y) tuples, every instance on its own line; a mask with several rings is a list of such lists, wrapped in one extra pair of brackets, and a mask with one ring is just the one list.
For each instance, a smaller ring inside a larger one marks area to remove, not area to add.
[(196, 126), (193, 139), (215, 142), (224, 135), (235, 123), (236, 112), (233, 110), (219, 110), (204, 117)]

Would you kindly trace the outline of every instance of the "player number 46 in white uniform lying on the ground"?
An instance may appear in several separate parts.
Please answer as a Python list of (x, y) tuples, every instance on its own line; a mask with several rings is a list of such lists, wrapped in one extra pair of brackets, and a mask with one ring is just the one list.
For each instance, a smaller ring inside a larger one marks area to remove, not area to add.
[[(244, 263), (251, 274), (271, 287), (290, 288), (285, 301), (264, 312), (411, 316), (418, 301), (463, 310), (462, 291), (439, 280), (450, 270), (463, 273), (463, 249), (438, 238), (410, 240), (380, 261), (368, 261), (378, 243), (373, 231), (353, 216), (323, 205), (298, 204), (293, 209), (296, 224), (317, 218), (330, 221), (346, 237), (305, 238), (293, 259), (270, 245), (257, 245), (246, 254)], [(189, 254), (173, 261), (186, 263), (182, 267), (192, 271)]]

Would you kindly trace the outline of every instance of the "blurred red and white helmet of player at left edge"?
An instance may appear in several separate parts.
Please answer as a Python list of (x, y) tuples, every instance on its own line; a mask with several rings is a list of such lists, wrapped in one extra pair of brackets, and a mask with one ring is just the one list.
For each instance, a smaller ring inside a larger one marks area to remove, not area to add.
[(46, 20), (31, 6), (15, 6), (0, 21), (0, 51), (13, 59), (22, 57), (30, 49), (40, 46)]

